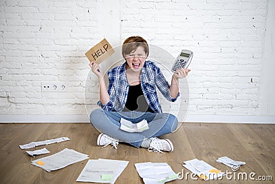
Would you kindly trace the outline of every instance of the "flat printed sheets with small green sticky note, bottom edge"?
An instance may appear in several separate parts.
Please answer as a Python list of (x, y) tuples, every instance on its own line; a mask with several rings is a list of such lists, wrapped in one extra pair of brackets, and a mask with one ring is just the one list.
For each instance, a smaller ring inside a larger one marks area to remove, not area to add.
[(76, 181), (115, 183), (129, 161), (109, 159), (89, 160)]

